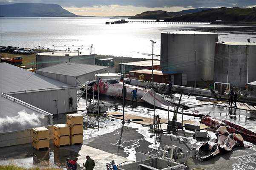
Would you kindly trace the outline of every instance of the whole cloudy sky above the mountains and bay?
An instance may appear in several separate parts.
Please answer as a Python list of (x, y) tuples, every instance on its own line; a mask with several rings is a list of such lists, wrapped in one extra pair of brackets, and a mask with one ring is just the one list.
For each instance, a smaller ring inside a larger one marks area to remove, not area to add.
[(0, 5), (11, 3), (55, 3), (77, 15), (100, 17), (133, 16), (154, 10), (256, 6), (256, 0), (0, 0)]

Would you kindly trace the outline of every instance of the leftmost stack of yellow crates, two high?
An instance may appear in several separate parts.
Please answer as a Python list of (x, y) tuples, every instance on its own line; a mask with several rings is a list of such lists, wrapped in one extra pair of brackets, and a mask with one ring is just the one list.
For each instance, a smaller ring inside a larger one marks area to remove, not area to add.
[(35, 127), (32, 129), (33, 147), (37, 150), (40, 148), (49, 148), (50, 130), (46, 127)]

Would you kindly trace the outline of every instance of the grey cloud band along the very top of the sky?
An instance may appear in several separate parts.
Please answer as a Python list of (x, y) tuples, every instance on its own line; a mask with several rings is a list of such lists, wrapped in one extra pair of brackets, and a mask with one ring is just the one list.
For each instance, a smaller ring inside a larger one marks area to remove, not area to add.
[(147, 8), (166, 8), (166, 7), (247, 7), (255, 5), (255, 0), (0, 0), (2, 4), (8, 3), (56, 3), (62, 7), (93, 7), (93, 6), (135, 6)]

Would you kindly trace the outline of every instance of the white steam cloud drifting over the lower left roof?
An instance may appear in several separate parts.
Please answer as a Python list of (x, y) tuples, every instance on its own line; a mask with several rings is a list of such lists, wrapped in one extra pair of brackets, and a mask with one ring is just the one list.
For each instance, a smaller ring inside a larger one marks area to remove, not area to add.
[(44, 115), (29, 114), (22, 110), (17, 116), (0, 118), (0, 132), (39, 127), (42, 124), (41, 119), (44, 119)]

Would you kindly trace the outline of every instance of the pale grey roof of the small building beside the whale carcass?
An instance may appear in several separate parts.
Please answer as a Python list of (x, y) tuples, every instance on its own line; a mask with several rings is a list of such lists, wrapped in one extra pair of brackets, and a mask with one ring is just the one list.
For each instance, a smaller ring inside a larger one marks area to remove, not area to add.
[(77, 64), (77, 63), (69, 62), (69, 63), (61, 63), (61, 64), (41, 68), (37, 71), (78, 77), (84, 74), (88, 74), (96, 71), (102, 71), (107, 68), (108, 67), (106, 66), (100, 66), (100, 65)]

